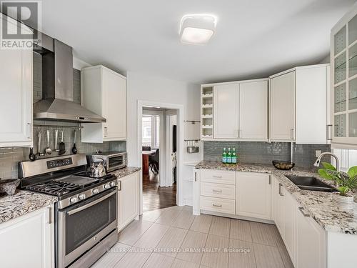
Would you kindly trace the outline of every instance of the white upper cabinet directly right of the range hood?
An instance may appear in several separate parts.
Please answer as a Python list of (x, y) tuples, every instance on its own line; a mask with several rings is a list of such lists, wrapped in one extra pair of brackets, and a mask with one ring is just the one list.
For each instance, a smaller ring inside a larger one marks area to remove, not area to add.
[(126, 139), (126, 78), (104, 66), (81, 70), (81, 104), (106, 123), (83, 124), (82, 142)]

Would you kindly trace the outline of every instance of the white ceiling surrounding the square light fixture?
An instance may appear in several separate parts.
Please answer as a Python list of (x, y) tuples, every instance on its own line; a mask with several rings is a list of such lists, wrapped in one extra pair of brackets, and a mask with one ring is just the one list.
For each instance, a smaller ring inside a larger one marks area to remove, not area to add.
[[(46, 0), (44, 33), (90, 64), (195, 83), (251, 79), (326, 58), (354, 0)], [(218, 16), (206, 46), (181, 44), (184, 14)]]

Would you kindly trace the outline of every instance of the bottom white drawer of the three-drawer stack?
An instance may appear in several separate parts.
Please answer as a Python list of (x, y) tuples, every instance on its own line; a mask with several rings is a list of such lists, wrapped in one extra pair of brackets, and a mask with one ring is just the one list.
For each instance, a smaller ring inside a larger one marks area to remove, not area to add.
[(200, 209), (226, 214), (236, 213), (236, 202), (231, 199), (200, 197)]

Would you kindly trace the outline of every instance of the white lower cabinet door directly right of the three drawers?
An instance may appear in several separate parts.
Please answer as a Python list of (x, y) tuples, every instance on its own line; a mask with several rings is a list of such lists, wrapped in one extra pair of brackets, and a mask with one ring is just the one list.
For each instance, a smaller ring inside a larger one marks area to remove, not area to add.
[(271, 219), (270, 175), (238, 172), (236, 208), (236, 214), (240, 216)]

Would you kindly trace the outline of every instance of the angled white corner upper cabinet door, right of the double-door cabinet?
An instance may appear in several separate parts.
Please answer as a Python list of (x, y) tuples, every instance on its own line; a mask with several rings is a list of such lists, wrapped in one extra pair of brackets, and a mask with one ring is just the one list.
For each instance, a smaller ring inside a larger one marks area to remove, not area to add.
[(271, 140), (295, 139), (295, 71), (276, 76), (271, 85)]

